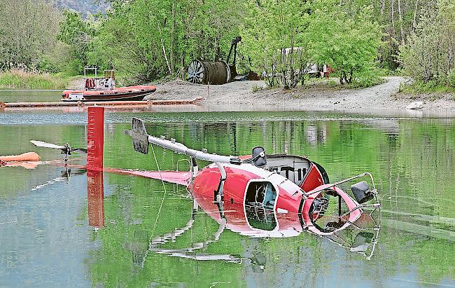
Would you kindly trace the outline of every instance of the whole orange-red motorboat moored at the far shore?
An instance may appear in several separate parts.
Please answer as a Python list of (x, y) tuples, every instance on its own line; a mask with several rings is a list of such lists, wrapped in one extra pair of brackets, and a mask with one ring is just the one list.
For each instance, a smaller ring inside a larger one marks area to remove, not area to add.
[[(94, 78), (87, 78), (86, 71), (88, 70), (94, 70)], [(113, 70), (104, 70), (104, 78), (98, 78), (96, 68), (85, 68), (84, 76), (84, 90), (64, 90), (62, 92), (62, 101), (141, 101), (156, 90), (153, 85), (116, 88), (116, 78)]]

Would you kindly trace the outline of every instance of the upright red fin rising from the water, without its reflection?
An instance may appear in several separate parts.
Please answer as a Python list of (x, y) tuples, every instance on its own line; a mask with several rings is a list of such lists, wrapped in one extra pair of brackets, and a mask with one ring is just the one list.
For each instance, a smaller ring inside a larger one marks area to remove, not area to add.
[(87, 170), (103, 170), (104, 107), (88, 107)]

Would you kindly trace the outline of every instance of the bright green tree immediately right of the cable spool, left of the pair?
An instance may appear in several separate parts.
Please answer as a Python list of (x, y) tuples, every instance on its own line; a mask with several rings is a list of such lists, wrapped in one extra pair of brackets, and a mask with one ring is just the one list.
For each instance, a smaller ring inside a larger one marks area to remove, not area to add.
[(249, 1), (248, 17), (241, 29), (250, 67), (264, 71), (267, 85), (280, 78), (284, 88), (303, 81), (307, 66), (307, 5), (297, 0)]

